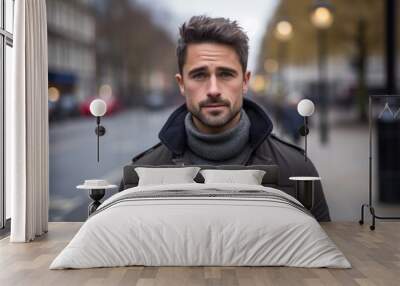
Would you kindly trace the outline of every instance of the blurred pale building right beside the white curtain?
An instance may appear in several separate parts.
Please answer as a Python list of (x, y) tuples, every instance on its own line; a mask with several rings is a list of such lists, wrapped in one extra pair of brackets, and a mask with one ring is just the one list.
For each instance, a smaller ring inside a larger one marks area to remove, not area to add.
[(64, 111), (77, 112), (78, 102), (95, 93), (96, 20), (90, 2), (47, 0), (49, 109), (64, 102)]

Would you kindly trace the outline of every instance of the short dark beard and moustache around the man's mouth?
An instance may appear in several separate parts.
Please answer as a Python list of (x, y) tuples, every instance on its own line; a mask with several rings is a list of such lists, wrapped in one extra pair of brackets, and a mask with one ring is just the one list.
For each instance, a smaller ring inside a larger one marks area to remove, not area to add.
[[(223, 109), (205, 111), (205, 107), (208, 105), (222, 105)], [(223, 127), (231, 122), (236, 115), (240, 112), (241, 106), (234, 108), (228, 100), (222, 98), (201, 101), (198, 106), (190, 107), (187, 109), (190, 111), (192, 116), (196, 117), (203, 125), (207, 127)], [(228, 111), (227, 111), (228, 109)]]

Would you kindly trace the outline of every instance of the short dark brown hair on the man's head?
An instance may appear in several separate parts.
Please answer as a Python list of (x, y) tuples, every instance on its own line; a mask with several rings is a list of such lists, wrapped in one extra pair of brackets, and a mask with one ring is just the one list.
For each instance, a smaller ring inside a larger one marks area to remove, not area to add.
[(193, 16), (179, 28), (179, 35), (176, 55), (181, 74), (186, 60), (188, 44), (207, 42), (226, 44), (234, 48), (239, 57), (243, 72), (246, 71), (249, 55), (249, 38), (236, 21), (226, 18)]

